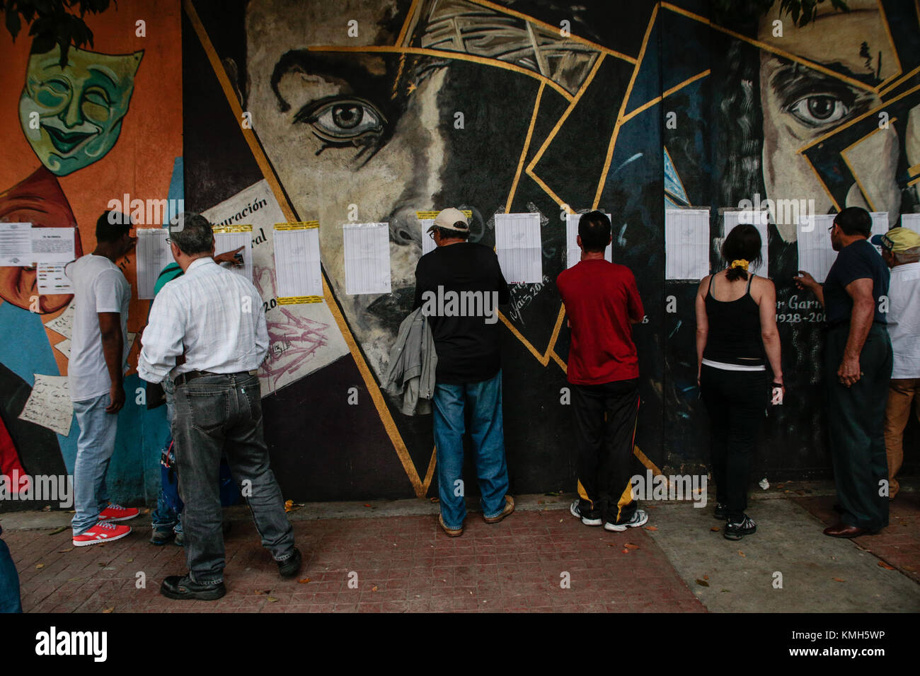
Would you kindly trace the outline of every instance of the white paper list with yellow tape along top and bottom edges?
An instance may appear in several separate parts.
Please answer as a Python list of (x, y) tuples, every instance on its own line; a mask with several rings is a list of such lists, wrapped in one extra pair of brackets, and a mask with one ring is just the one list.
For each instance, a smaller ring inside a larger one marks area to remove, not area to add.
[(297, 299), (302, 303), (322, 301), (319, 222), (275, 223), (273, 235), (279, 299)]

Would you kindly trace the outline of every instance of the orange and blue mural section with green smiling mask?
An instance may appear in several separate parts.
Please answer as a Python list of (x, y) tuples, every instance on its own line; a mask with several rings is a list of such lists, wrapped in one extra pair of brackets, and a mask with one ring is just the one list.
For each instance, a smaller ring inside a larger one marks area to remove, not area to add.
[[(0, 222), (74, 227), (77, 257), (95, 246), (96, 219), (109, 200), (165, 196), (181, 155), (180, 103), (174, 98), (171, 106), (163, 105), (170, 88), (179, 88), (167, 85), (164, 76), (181, 58), (167, 50), (178, 37), (178, 7), (169, 12), (139, 2), (86, 20), (94, 47), (72, 46), (63, 67), (58, 46), (42, 51), (40, 40), (30, 44), (20, 36), (13, 42), (6, 32), (0, 35), (0, 90), (6, 93), (0, 109), (6, 130), (0, 185), (7, 187), (0, 192)], [(152, 136), (144, 138), (148, 133)], [(150, 138), (156, 138), (155, 146)], [(119, 265), (133, 285), (132, 254)], [(50, 424), (19, 418), (36, 375), (65, 375), (68, 360), (73, 296), (40, 294), (36, 274), (32, 267), (0, 268), (5, 475), (13, 470), (65, 475), (75, 457), (75, 425), (63, 423), (55, 433)], [(132, 299), (129, 332), (144, 326), (146, 306)], [(136, 376), (126, 380), (129, 399), (136, 381)], [(126, 407), (120, 418), (119, 446), (131, 448), (133, 457), (116, 454), (113, 483), (117, 489), (125, 480), (129, 492), (143, 493), (139, 412)]]

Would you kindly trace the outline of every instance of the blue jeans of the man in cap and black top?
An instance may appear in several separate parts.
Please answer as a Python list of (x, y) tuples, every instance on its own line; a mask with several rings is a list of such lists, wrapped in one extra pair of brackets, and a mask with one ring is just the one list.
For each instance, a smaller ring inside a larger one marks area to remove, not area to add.
[(469, 433), (476, 447), (480, 504), (487, 519), (498, 516), (505, 509), (508, 492), (501, 422), (501, 372), (480, 383), (437, 384), (434, 388), (434, 446), (438, 453), (438, 494), (441, 518), (450, 529), (462, 528), (466, 518), (462, 482), (467, 404), (471, 407)]

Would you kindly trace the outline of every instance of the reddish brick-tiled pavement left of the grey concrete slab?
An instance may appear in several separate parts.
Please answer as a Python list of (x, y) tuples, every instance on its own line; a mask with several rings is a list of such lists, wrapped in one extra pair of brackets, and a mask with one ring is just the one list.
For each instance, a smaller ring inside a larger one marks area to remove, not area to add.
[(184, 550), (149, 544), (144, 523), (119, 542), (81, 548), (69, 529), (3, 537), (27, 613), (705, 612), (649, 533), (589, 528), (564, 510), (519, 510), (494, 525), (470, 514), (459, 538), (433, 516), (293, 526), (305, 566), (283, 580), (252, 523), (235, 521), (217, 602), (159, 594), (162, 579), (185, 571)]

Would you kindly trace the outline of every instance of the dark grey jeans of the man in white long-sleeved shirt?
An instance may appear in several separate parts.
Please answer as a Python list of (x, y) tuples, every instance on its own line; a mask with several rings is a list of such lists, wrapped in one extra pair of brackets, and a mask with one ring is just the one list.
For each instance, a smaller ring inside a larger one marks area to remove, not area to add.
[(262, 546), (276, 561), (293, 556), (293, 527), (262, 434), (259, 378), (247, 373), (195, 378), (176, 387), (175, 407), (172, 432), (191, 579), (200, 584), (224, 580), (222, 453), (247, 499)]

